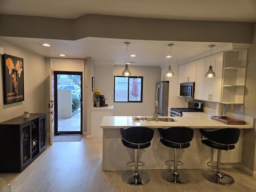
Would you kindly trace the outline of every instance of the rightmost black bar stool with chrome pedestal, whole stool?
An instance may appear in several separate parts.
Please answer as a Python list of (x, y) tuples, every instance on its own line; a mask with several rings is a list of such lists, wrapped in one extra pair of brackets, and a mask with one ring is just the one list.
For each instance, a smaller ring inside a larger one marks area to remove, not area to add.
[[(201, 140), (202, 143), (207, 145), (208, 147), (218, 149), (217, 154), (217, 166), (212, 166), (208, 162), (207, 165), (211, 167), (217, 167), (217, 172), (213, 172), (212, 170), (208, 170), (203, 172), (204, 178), (209, 180), (210, 182), (219, 184), (219, 185), (231, 185), (235, 181), (234, 179), (223, 172), (220, 172), (221, 167), (221, 150), (232, 150), (235, 148), (235, 145), (238, 142), (240, 136), (240, 129), (238, 128), (221, 128), (214, 130), (204, 130), (200, 129)], [(204, 136), (206, 139), (202, 139)]]

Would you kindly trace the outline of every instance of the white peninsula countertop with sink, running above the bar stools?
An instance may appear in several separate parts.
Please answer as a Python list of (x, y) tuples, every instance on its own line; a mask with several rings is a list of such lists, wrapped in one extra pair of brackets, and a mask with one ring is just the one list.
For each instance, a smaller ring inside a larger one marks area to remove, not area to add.
[(204, 112), (189, 112), (192, 117), (172, 117), (176, 122), (162, 121), (134, 121), (132, 116), (104, 116), (100, 128), (126, 128), (130, 126), (148, 126), (151, 128), (166, 128), (169, 126), (186, 126), (190, 128), (253, 128), (254, 118), (246, 119), (245, 125), (228, 125), (211, 119), (211, 115)]

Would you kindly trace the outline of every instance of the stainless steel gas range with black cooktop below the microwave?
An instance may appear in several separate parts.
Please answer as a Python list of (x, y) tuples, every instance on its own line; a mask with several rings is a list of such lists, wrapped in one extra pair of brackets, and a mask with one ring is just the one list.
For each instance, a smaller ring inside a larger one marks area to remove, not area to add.
[(181, 117), (182, 112), (202, 112), (202, 103), (188, 101), (188, 108), (171, 108), (171, 116)]

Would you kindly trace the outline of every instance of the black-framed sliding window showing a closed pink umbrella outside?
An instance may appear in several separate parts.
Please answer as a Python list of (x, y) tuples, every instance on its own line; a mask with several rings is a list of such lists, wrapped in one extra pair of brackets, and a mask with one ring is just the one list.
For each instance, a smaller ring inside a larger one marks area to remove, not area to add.
[(114, 102), (142, 102), (143, 77), (114, 76)]

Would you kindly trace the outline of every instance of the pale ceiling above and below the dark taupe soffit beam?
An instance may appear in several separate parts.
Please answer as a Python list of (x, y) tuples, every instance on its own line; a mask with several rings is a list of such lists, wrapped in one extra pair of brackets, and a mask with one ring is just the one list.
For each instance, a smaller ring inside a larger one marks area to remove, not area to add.
[[(105, 14), (140, 18), (177, 20), (212, 20), (233, 22), (256, 22), (256, 0), (0, 0), (0, 13), (26, 16), (45, 16), (75, 19), (85, 14)], [(124, 64), (126, 45), (131, 65), (167, 66), (166, 58), (173, 43), (172, 63), (181, 63), (200, 54), (209, 54), (208, 45), (216, 44), (214, 50), (227, 43), (168, 42), (151, 40), (123, 40), (109, 38), (83, 38), (80, 40), (53, 40), (39, 38), (0, 37), (39, 55), (60, 58), (92, 57), (95, 62)], [(52, 46), (43, 47), (42, 43)], [(182, 50), (182, 52), (180, 51)]]

